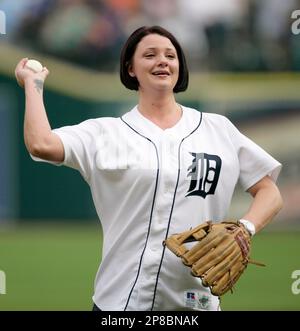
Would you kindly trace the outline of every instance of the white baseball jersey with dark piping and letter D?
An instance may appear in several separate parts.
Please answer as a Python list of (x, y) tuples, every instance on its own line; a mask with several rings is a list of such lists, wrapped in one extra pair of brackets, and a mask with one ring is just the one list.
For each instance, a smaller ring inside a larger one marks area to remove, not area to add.
[(218, 310), (219, 299), (162, 242), (226, 218), (245, 190), (281, 165), (224, 116), (182, 107), (162, 130), (137, 107), (121, 118), (54, 130), (64, 165), (89, 184), (104, 234), (93, 300), (102, 310)]

